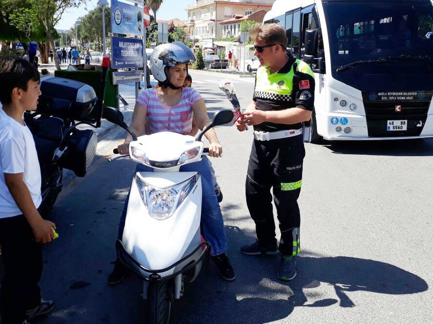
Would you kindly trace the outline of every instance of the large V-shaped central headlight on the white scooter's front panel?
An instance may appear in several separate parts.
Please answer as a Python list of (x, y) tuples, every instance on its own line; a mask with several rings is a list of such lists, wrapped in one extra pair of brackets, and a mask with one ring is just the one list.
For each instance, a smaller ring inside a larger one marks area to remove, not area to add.
[(135, 175), (135, 183), (144, 205), (149, 210), (149, 214), (154, 219), (163, 220), (174, 214), (197, 183), (198, 177), (198, 175), (195, 175), (180, 184), (166, 188), (156, 188)]

